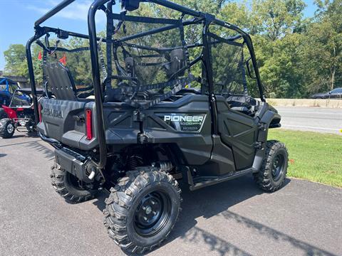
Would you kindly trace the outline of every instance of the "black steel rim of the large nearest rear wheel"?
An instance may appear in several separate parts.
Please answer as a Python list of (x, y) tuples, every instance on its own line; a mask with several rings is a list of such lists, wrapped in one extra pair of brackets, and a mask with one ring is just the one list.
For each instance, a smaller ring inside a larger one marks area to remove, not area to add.
[(171, 199), (164, 191), (144, 196), (135, 210), (134, 228), (138, 235), (151, 237), (167, 224), (171, 214)]

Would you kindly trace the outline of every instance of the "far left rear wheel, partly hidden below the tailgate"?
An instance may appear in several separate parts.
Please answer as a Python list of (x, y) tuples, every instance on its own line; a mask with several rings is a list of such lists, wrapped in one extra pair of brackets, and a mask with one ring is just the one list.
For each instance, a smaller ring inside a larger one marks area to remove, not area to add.
[(51, 167), (51, 184), (68, 203), (80, 203), (95, 198), (97, 189), (92, 184), (81, 182), (76, 176), (58, 164)]

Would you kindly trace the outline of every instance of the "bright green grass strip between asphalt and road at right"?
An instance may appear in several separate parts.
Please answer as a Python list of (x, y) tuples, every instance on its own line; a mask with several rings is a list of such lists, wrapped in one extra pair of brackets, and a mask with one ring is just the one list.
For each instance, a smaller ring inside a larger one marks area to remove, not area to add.
[(270, 129), (269, 139), (286, 144), (288, 176), (342, 187), (342, 136)]

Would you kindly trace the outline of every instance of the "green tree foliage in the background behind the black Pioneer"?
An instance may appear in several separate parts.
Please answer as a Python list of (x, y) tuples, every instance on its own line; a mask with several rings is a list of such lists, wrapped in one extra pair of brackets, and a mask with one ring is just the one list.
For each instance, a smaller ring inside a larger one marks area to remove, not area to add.
[[(215, 14), (249, 32), (254, 41), (261, 80), (268, 97), (307, 97), (314, 92), (342, 87), (342, 0), (315, 0), (317, 10), (304, 18), (303, 0), (175, 0), (191, 9)], [(180, 14), (162, 6), (141, 4), (135, 15), (180, 18)], [(149, 24), (127, 23), (130, 32), (145, 31)], [(188, 43), (200, 41), (200, 26), (185, 28)], [(177, 36), (162, 33), (154, 37), (155, 46), (173, 45)], [(122, 32), (118, 36), (123, 36)], [(141, 43), (141, 42), (140, 42)], [(66, 48), (87, 46), (87, 41), (66, 41)], [(39, 48), (33, 46), (33, 66), (37, 82), (42, 81)], [(63, 54), (63, 53), (60, 53)], [(199, 53), (194, 52), (192, 56)], [(25, 47), (11, 45), (4, 52), (5, 74), (28, 77)], [(59, 55), (58, 55), (59, 58)], [(218, 55), (218, 58), (224, 56)], [(68, 66), (76, 73), (78, 84), (91, 83), (87, 53), (68, 54)], [(200, 68), (198, 67), (199, 74)]]

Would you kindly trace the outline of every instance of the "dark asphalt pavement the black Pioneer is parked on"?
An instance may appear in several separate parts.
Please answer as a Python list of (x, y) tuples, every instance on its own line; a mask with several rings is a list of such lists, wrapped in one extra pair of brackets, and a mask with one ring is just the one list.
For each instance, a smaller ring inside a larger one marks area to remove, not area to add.
[[(0, 255), (124, 255), (103, 227), (105, 194), (71, 205), (51, 187), (53, 151), (0, 139)], [(251, 176), (190, 192), (170, 238), (149, 255), (342, 255), (342, 189), (287, 179), (262, 193)]]

